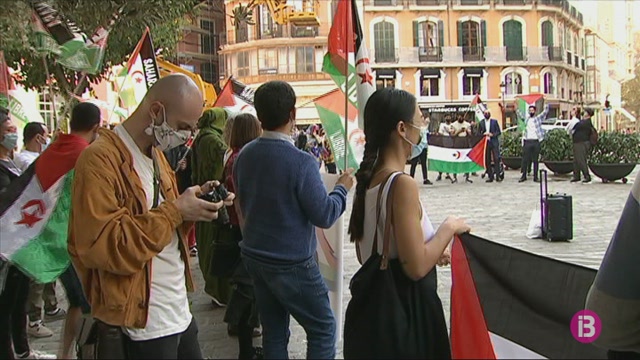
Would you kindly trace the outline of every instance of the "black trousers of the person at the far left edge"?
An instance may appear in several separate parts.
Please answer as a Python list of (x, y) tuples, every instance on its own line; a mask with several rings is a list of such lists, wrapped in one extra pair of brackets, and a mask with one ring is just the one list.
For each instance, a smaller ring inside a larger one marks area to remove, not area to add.
[(16, 267), (9, 268), (4, 291), (0, 295), (0, 359), (14, 359), (16, 354), (28, 353), (27, 299), (29, 278)]

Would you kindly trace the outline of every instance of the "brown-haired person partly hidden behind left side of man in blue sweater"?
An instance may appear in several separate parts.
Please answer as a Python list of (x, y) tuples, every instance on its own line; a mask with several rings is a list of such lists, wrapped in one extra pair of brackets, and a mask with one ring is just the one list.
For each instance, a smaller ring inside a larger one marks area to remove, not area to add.
[[(229, 134), (229, 149), (231, 156), (224, 165), (224, 184), (228, 191), (236, 192), (233, 182), (233, 165), (238, 158), (240, 150), (249, 142), (257, 139), (262, 134), (260, 122), (251, 114), (239, 114), (234, 117), (233, 127)], [(233, 207), (229, 207), (229, 221), (232, 235), (232, 242), (237, 249), (236, 256), (227, 263), (235, 263), (235, 269), (230, 269), (232, 273), (231, 283), (233, 290), (227, 311), (224, 315), (224, 321), (230, 328), (234, 328), (238, 334), (238, 359), (259, 359), (262, 357), (262, 348), (253, 346), (253, 337), (256, 335), (255, 330), (260, 326), (258, 310), (256, 308), (255, 295), (253, 291), (253, 281), (247, 272), (244, 263), (240, 259), (240, 242), (242, 241), (242, 221), (239, 217), (238, 203)]]

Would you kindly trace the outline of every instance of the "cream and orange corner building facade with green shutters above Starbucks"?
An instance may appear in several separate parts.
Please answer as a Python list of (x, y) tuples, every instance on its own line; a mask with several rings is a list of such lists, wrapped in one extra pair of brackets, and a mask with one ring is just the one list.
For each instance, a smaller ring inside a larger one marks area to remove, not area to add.
[(565, 0), (365, 0), (364, 13), (378, 88), (416, 94), (432, 126), (472, 116), (475, 95), (503, 127), (518, 95), (544, 94), (548, 117), (583, 101), (583, 18)]

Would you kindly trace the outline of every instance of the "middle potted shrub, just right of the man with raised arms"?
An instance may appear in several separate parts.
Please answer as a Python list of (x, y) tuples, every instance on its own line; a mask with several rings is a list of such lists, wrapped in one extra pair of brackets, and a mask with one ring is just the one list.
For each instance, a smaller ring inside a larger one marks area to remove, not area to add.
[(554, 174), (564, 175), (573, 171), (573, 144), (564, 129), (553, 129), (544, 135), (540, 159)]

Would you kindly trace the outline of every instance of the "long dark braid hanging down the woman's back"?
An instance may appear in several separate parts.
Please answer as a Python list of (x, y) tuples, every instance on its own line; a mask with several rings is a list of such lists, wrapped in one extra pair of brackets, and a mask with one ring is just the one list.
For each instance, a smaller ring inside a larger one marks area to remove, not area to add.
[(379, 146), (373, 139), (365, 143), (364, 156), (360, 168), (356, 173), (356, 195), (353, 199), (353, 208), (351, 209), (351, 219), (349, 221), (349, 234), (351, 242), (357, 242), (364, 235), (364, 200), (367, 196), (367, 189), (371, 184), (373, 177), (373, 168), (378, 159)]

